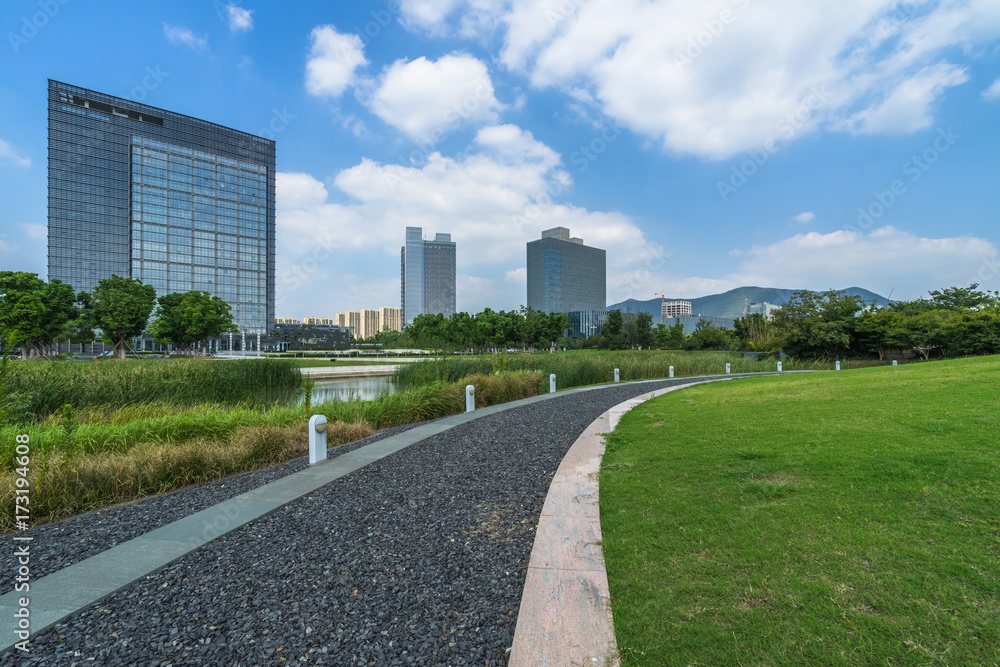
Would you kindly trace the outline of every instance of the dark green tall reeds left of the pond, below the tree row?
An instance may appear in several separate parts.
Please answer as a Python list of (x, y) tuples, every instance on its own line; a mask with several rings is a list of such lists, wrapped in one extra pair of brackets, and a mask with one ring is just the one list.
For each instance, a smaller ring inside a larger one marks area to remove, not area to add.
[(301, 383), (294, 363), (277, 359), (15, 362), (7, 369), (7, 422), (43, 421), (66, 404), (76, 410), (143, 403), (262, 405)]

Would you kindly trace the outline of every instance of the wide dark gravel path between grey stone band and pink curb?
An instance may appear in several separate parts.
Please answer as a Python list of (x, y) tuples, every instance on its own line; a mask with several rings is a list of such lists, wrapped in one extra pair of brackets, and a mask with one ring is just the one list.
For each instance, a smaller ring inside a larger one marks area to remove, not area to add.
[(205, 545), (0, 665), (506, 664), (566, 450), (613, 405), (690, 381), (566, 395), (432, 436)]

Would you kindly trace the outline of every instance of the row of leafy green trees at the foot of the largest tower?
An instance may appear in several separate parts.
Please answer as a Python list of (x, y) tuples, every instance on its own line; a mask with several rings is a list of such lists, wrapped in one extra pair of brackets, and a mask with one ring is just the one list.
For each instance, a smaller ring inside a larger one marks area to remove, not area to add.
[[(154, 319), (150, 321), (153, 309)], [(101, 339), (125, 358), (126, 341), (148, 332), (156, 342), (202, 350), (209, 338), (235, 330), (229, 304), (208, 292), (156, 297), (152, 285), (121, 276), (97, 282), (93, 292), (73, 293), (59, 280), (34, 273), (0, 271), (0, 337), (22, 357), (47, 356), (57, 342), (85, 344)]]

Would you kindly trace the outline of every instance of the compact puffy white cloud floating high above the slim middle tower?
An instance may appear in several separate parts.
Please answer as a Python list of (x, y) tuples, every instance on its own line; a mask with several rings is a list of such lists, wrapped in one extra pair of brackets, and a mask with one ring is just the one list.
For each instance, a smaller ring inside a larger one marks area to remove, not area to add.
[(413, 141), (433, 145), (462, 126), (496, 122), (502, 105), (486, 65), (456, 53), (437, 61), (397, 60), (382, 74), (368, 107)]

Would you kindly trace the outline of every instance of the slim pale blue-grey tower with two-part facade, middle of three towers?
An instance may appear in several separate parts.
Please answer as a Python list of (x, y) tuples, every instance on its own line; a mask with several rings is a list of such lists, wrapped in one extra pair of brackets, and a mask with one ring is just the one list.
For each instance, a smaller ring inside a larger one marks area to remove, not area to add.
[(423, 229), (406, 228), (406, 245), (400, 251), (400, 300), (403, 324), (417, 315), (455, 313), (455, 242), (451, 234), (437, 234), (425, 241)]

